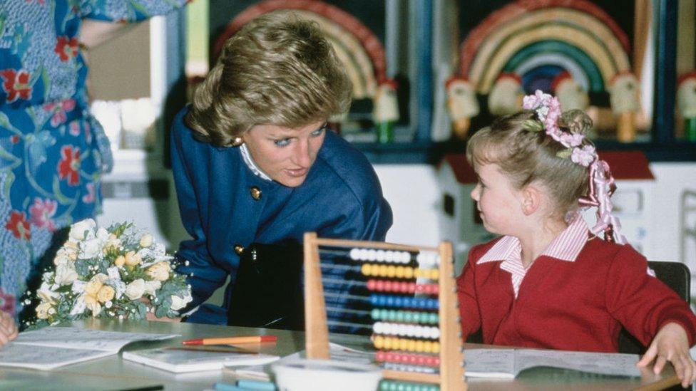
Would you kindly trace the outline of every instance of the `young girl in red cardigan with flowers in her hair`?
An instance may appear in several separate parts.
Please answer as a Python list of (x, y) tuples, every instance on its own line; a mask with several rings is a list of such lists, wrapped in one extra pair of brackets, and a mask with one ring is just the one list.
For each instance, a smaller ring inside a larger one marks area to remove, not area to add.
[[(541, 91), (523, 107), (466, 147), (478, 176), (471, 197), (502, 236), (474, 246), (457, 279), (464, 338), (481, 329), (488, 344), (616, 352), (623, 325), (650, 344), (638, 366), (657, 358), (659, 373), (670, 361), (686, 387), (696, 379), (696, 316), (616, 231), (613, 177), (584, 137), (591, 120), (561, 114)], [(598, 208), (592, 229), (578, 200)]]

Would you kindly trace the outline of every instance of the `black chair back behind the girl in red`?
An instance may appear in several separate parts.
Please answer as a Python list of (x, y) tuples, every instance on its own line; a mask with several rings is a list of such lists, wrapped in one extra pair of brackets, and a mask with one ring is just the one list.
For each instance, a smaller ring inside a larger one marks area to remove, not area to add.
[[(691, 273), (685, 264), (680, 262), (648, 261), (650, 269), (655, 271), (657, 279), (669, 286), (680, 298), (687, 303), (691, 301)], [(626, 329), (619, 334), (619, 353), (643, 354), (647, 347), (643, 346)]]

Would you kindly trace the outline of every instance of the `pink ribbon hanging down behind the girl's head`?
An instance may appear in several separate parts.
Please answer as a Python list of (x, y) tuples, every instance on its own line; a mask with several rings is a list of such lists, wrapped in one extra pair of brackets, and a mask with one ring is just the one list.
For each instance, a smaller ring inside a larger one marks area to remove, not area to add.
[(618, 217), (611, 211), (611, 194), (616, 189), (614, 177), (609, 170), (609, 165), (604, 160), (595, 159), (590, 165), (590, 192), (587, 197), (580, 198), (579, 202), (585, 207), (597, 207), (597, 222), (590, 229), (593, 234), (604, 232), (606, 241), (615, 241), (618, 244), (626, 244), (625, 236), (618, 233), (621, 223)]

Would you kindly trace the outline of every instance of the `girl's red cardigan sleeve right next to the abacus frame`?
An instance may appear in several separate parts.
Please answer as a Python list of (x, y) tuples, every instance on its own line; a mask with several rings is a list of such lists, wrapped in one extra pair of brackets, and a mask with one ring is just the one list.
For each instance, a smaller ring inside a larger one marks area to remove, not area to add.
[(459, 299), (459, 319), (461, 321), (462, 338), (466, 338), (481, 328), (481, 313), (478, 311), (478, 298), (476, 298), (476, 260), (478, 246), (469, 251), (469, 259), (464, 265), (464, 270), (456, 279), (457, 298)]

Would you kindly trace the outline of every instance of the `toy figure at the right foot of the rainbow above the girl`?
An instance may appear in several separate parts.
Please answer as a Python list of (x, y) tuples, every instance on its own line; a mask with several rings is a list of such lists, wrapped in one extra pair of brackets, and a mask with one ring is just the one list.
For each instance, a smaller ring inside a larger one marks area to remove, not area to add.
[(611, 110), (618, 117), (616, 138), (620, 142), (635, 140), (635, 113), (640, 110), (640, 86), (630, 72), (617, 73), (609, 85)]

